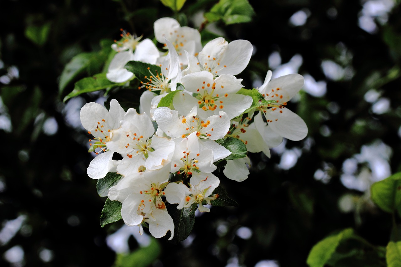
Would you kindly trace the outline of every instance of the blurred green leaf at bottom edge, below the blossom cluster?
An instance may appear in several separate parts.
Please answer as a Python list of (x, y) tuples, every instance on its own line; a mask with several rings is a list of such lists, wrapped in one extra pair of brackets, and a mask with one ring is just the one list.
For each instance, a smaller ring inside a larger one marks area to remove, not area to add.
[(140, 247), (130, 254), (117, 253), (114, 267), (146, 267), (159, 257), (161, 252), (160, 243), (157, 239), (151, 238), (147, 247)]

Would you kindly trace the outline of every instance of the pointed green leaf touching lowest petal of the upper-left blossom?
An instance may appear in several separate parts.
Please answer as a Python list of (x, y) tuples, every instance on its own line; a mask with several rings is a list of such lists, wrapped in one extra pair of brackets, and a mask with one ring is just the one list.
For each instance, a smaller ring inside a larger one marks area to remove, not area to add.
[(75, 83), (74, 90), (64, 97), (64, 102), (71, 97), (76, 97), (82, 93), (99, 91), (112, 86), (124, 85), (124, 83), (113, 83), (106, 78), (106, 73), (99, 73), (92, 77), (83, 78)]

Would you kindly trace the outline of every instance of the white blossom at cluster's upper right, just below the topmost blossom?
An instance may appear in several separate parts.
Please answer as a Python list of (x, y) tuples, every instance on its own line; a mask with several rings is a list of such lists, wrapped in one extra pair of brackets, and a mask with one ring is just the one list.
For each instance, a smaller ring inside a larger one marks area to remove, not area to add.
[(209, 71), (214, 76), (237, 75), (248, 65), (253, 47), (248, 40), (227, 42), (218, 37), (208, 42), (199, 53), (198, 60), (188, 55), (188, 67), (183, 75), (198, 71)]

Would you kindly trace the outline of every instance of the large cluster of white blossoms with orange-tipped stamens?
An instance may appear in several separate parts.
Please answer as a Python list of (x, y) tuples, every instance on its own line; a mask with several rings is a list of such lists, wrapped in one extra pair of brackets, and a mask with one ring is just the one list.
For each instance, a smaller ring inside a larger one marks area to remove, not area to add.
[[(306, 136), (304, 121), (286, 107), (304, 79), (290, 74), (270, 81), (267, 71), (261, 87), (244, 89), (235, 75), (252, 56), (249, 41), (219, 37), (202, 47), (198, 30), (172, 18), (157, 20), (154, 35), (166, 51), (122, 31), (106, 75), (115, 83), (140, 81), (140, 88), (147, 89), (140, 97), (140, 113), (124, 111), (112, 99), (109, 111), (87, 103), (81, 122), (93, 135), (89, 151), (97, 154), (87, 169), (89, 177), (122, 176), (107, 196), (122, 203), (124, 223), (138, 225), (140, 233), (148, 227), (157, 238), (170, 231), (173, 239), (177, 222), (168, 212), (171, 207), (209, 212), (210, 205), (219, 206), (220, 180), (213, 174), (217, 165), (226, 164), (227, 178), (243, 181), (249, 174), (247, 152), (270, 157), (269, 149), (283, 138)], [(149, 74), (138, 77), (127, 69), (130, 61), (147, 63), (150, 67), (139, 73)], [(114, 154), (122, 159), (113, 160)]]

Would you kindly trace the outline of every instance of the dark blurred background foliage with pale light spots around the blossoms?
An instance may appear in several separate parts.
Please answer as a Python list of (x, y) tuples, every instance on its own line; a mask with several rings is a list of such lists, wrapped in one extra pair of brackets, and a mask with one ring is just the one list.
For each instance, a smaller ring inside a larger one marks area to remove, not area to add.
[[(86, 174), (93, 156), (81, 107), (116, 98), (127, 109), (138, 91), (63, 98), (75, 81), (102, 72), (93, 57), (107, 59), (120, 28), (154, 38), (153, 22), (164, 16), (199, 28), (217, 1), (188, 0), (180, 14), (156, 0), (1, 1), (1, 266), (306, 266), (313, 245), (348, 227), (387, 245), (398, 218), (371, 202), (369, 188), (401, 170), (400, 1), (249, 2), (251, 22), (208, 24), (202, 41), (217, 34), (253, 44), (237, 75), (245, 88), (260, 86), (269, 69), (273, 78), (303, 75), (288, 107), (309, 133), (284, 140), (271, 158), (250, 154), (247, 180), (221, 179), (239, 207), (198, 214), (188, 239), (170, 244), (122, 220), (101, 228), (105, 198)], [(81, 53), (81, 71), (63, 79)], [(363, 249), (348, 263), (385, 266), (371, 254)]]

